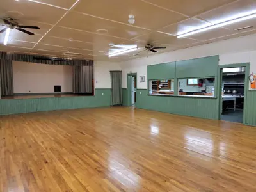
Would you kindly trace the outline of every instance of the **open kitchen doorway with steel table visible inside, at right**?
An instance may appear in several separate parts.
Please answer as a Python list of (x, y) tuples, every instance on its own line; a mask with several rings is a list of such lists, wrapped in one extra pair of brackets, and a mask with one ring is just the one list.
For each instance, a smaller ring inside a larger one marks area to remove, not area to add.
[(220, 67), (220, 120), (244, 122), (248, 66), (242, 63)]

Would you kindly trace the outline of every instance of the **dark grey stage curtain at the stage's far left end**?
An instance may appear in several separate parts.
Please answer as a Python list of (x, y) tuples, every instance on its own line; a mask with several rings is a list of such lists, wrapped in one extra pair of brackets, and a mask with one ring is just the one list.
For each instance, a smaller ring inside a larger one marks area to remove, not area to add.
[(1, 95), (13, 95), (12, 60), (0, 60)]

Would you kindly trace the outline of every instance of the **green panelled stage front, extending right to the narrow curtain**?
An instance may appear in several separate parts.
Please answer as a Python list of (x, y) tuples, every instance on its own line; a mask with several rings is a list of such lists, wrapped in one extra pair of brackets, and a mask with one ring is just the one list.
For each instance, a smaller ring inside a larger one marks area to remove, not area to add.
[(110, 106), (110, 101), (110, 89), (95, 89), (95, 96), (0, 99), (0, 115), (61, 109), (106, 107)]

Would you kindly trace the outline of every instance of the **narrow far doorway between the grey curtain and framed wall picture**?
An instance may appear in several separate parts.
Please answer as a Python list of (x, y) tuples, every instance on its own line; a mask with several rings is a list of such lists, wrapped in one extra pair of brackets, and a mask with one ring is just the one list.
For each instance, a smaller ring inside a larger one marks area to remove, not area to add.
[(136, 105), (137, 73), (127, 74), (128, 106)]

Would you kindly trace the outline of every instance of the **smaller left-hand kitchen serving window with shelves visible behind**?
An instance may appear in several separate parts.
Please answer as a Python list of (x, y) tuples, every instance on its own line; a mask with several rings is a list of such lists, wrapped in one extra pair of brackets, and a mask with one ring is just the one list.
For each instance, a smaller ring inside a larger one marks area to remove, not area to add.
[(149, 81), (150, 95), (173, 95), (174, 79), (159, 79)]

